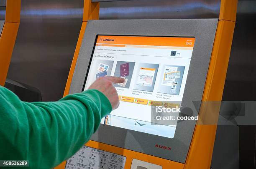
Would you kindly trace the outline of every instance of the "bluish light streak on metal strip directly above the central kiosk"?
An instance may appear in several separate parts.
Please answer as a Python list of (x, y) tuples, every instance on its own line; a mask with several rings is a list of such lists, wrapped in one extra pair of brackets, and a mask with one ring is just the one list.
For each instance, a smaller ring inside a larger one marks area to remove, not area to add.
[[(150, 10), (149, 10), (150, 8)], [(202, 2), (193, 2), (193, 3), (187, 3), (177, 6), (140, 6), (140, 7), (107, 7), (105, 9), (102, 9), (100, 12), (102, 15), (115, 13), (117, 11), (121, 11), (120, 13), (123, 14), (130, 14), (130, 13), (144, 13), (144, 12), (151, 12), (151, 13), (158, 13), (158, 12), (182, 12), (182, 11), (189, 11), (189, 10), (195, 10), (195, 9), (206, 9), (213, 12), (220, 10), (220, 2), (216, 2), (212, 5), (208, 5)], [(117, 12), (119, 13), (119, 12)]]

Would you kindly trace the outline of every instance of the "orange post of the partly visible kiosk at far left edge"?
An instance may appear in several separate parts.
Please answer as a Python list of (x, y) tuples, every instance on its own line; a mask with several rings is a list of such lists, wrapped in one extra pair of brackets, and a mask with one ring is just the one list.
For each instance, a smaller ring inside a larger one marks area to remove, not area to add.
[(0, 20), (0, 85), (4, 86), (20, 23), (21, 0), (1, 2), (5, 20)]

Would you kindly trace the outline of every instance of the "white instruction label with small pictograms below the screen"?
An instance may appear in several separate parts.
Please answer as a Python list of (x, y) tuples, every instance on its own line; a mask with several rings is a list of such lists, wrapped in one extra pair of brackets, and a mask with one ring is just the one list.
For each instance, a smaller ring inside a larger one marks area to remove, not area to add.
[(126, 157), (83, 146), (67, 159), (65, 169), (124, 169)]

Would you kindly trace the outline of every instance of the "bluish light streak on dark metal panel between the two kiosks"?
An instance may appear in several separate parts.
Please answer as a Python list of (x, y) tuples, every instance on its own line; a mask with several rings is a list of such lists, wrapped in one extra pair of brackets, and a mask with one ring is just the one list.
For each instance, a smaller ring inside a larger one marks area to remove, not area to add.
[(21, 15), (55, 15), (55, 16), (67, 16), (67, 15), (82, 15), (82, 8), (69, 8), (69, 9), (46, 9), (46, 10), (21, 10)]

